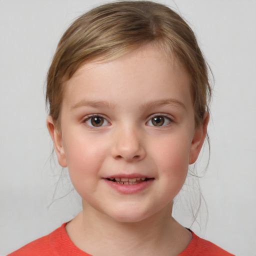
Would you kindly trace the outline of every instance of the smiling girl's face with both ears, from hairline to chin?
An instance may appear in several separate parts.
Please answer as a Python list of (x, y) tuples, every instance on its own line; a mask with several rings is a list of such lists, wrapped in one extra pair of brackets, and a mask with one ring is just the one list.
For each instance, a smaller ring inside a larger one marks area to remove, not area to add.
[(47, 125), (84, 210), (132, 222), (167, 209), (206, 132), (207, 121), (195, 127), (187, 73), (145, 46), (84, 64), (64, 86), (61, 131)]

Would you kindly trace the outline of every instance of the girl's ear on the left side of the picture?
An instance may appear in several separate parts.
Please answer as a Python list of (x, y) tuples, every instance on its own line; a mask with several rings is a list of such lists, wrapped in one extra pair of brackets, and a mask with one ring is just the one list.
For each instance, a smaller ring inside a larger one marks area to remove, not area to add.
[(56, 122), (53, 121), (53, 119), (50, 115), (48, 115), (46, 118), (46, 125), (47, 125), (47, 129), (50, 133), (51, 139), (53, 141), (54, 150), (57, 155), (58, 163), (62, 167), (66, 167), (67, 166), (66, 156), (65, 156), (65, 151), (64, 151), (63, 144), (62, 144), (61, 132), (57, 128)]

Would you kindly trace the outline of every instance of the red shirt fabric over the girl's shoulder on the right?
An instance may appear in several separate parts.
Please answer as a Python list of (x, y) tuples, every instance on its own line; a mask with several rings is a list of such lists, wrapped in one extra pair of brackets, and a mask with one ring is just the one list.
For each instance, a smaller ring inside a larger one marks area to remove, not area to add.
[(233, 254), (221, 249), (214, 243), (198, 237), (195, 233), (192, 233), (192, 240), (186, 247), (186, 249), (179, 254), (179, 256), (234, 256)]

